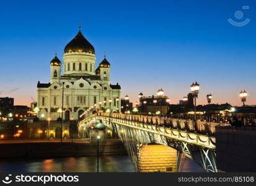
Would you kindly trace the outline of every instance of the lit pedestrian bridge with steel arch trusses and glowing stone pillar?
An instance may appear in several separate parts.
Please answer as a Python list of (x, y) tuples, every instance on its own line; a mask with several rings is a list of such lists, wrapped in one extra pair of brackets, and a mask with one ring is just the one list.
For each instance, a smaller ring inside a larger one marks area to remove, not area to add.
[(227, 125), (147, 115), (98, 113), (81, 120), (79, 129), (89, 128), (93, 123), (103, 123), (117, 133), (138, 172), (176, 172), (178, 153), (193, 159), (207, 172), (217, 172), (215, 126)]

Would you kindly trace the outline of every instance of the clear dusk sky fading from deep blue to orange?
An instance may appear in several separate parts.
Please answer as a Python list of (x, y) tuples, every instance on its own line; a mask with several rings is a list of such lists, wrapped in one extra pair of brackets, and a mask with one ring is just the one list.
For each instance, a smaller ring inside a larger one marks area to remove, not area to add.
[[(14, 97), (15, 105), (36, 100), (37, 81), (50, 81), (50, 61), (55, 53), (62, 60), (81, 23), (96, 65), (106, 51), (122, 97), (135, 102), (140, 92), (162, 88), (177, 104), (198, 81), (198, 104), (211, 93), (213, 104), (241, 105), (245, 89), (247, 104), (255, 105), (255, 8), (245, 0), (2, 1), (0, 97)], [(250, 22), (237, 27), (229, 18)]]

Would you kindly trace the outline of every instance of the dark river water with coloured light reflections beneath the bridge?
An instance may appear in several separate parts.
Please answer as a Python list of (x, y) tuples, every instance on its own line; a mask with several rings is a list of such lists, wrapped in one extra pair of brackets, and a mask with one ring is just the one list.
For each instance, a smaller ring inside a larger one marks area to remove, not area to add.
[[(181, 172), (204, 172), (190, 159), (182, 157)], [(0, 172), (96, 172), (97, 157), (56, 157), (52, 159), (0, 159)], [(129, 156), (100, 156), (99, 172), (135, 172)]]

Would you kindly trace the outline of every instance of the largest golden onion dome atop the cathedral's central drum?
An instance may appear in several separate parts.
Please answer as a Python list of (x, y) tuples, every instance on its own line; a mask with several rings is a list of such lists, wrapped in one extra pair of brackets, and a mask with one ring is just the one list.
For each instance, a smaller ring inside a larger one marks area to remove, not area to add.
[(78, 34), (76, 34), (76, 37), (73, 38), (73, 40), (71, 40), (71, 42), (69, 42), (64, 49), (64, 53), (73, 51), (88, 52), (94, 54), (94, 47), (83, 36), (83, 34), (81, 33), (81, 28)]

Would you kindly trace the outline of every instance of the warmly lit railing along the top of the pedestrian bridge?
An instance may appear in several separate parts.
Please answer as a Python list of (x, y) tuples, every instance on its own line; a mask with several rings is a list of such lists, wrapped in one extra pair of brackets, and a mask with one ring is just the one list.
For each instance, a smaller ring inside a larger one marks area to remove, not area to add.
[(157, 117), (149, 115), (132, 115), (124, 113), (96, 113), (85, 118), (85, 120), (88, 120), (91, 117), (95, 117), (96, 115), (110, 118), (118, 118), (121, 120), (128, 120), (132, 122), (147, 123), (149, 125), (164, 126), (167, 128), (175, 128), (178, 130), (197, 131), (198, 133), (206, 133), (208, 135), (213, 135), (215, 133), (216, 126), (229, 126), (229, 124), (227, 123), (203, 122), (201, 120), (196, 120), (196, 122), (193, 123), (193, 120), (184, 120), (170, 117)]

